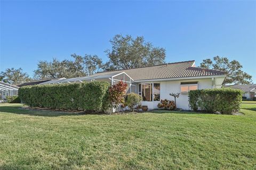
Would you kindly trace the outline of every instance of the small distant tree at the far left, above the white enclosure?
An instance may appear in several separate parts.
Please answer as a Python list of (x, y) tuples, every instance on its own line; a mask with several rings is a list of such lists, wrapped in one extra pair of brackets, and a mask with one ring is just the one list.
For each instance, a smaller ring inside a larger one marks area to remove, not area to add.
[(3, 82), (13, 85), (29, 82), (31, 80), (27, 72), (23, 72), (21, 68), (7, 68), (4, 72), (1, 72), (0, 78)]

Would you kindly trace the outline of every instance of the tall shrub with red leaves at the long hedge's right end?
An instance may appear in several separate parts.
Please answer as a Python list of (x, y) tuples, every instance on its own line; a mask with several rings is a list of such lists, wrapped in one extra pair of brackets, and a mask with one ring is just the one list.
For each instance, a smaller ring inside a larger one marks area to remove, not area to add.
[(119, 104), (124, 104), (125, 91), (127, 89), (127, 83), (122, 81), (109, 87), (109, 99), (117, 107)]

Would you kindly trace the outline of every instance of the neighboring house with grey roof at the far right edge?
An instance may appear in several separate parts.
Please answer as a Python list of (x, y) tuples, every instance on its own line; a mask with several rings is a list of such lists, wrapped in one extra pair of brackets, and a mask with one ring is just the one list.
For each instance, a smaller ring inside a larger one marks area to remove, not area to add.
[(246, 97), (246, 99), (253, 100), (253, 98), (256, 96), (256, 84), (247, 84), (247, 85), (227, 85), (225, 87), (230, 87), (234, 89), (242, 90), (243, 96)]

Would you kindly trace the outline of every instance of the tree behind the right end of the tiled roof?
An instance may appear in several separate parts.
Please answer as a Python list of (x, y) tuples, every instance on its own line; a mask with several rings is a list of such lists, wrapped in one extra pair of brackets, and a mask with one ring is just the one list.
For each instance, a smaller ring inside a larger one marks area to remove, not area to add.
[(229, 61), (226, 57), (215, 56), (213, 60), (205, 59), (200, 64), (201, 68), (227, 71), (227, 77), (222, 85), (226, 84), (250, 84), (252, 76), (242, 71), (243, 66), (236, 60)]

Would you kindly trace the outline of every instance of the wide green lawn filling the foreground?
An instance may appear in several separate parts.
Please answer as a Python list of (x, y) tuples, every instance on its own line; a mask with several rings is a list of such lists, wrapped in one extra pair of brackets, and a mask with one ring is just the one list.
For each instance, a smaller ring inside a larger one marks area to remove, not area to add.
[(0, 169), (256, 169), (244, 115), (77, 115), (0, 105)]

